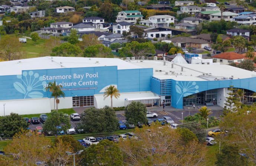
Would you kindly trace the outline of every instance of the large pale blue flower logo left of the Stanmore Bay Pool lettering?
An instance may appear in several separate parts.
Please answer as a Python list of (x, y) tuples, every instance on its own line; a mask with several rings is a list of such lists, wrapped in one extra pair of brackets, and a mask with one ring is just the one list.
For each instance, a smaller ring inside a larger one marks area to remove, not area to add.
[(43, 97), (43, 93), (38, 90), (42, 90), (45, 92), (46, 90), (44, 87), (42, 88), (42, 86), (45, 85), (46, 82), (43, 81), (42, 76), (39, 77), (38, 73), (34, 73), (33, 71), (29, 71), (29, 72), (24, 71), (22, 75), (17, 75), (17, 78), (22, 80), (23, 84), (20, 82), (14, 82), (13, 86), (18, 92), (25, 95), (24, 98)]

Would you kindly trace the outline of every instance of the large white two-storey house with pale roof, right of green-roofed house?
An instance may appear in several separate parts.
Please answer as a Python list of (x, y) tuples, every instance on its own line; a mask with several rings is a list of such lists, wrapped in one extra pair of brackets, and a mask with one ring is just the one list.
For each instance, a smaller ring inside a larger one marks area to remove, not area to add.
[(171, 15), (153, 15), (148, 17), (148, 20), (143, 20), (139, 23), (151, 27), (169, 27), (170, 23), (174, 24), (174, 19), (175, 17)]

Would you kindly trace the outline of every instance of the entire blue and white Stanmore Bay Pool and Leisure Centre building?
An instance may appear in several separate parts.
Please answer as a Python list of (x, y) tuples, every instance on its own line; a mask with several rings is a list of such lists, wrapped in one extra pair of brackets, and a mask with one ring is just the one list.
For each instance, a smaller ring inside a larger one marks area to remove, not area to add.
[(256, 73), (229, 65), (188, 64), (181, 55), (171, 62), (137, 58), (41, 57), (0, 62), (0, 115), (49, 113), (54, 108), (49, 82), (63, 86), (60, 108), (110, 105), (106, 87), (120, 91), (113, 106), (141, 101), (147, 106), (183, 108), (196, 105), (224, 107), (227, 88), (244, 90), (243, 103), (252, 103)]

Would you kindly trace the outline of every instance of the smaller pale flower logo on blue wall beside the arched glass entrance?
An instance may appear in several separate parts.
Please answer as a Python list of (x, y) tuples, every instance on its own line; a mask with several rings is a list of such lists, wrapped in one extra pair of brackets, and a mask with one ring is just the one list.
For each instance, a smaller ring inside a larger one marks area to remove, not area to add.
[(191, 94), (194, 94), (194, 93), (198, 93), (199, 91), (197, 90), (199, 88), (198, 85), (196, 85), (196, 82), (188, 82), (186, 84), (186, 82), (176, 82), (176, 85), (175, 85), (175, 89), (176, 89), (176, 92), (181, 94), (180, 95), (180, 98), (179, 100), (177, 101), (176, 104), (178, 104), (178, 102), (180, 101), (181, 97), (186, 97), (186, 96), (189, 96)]

